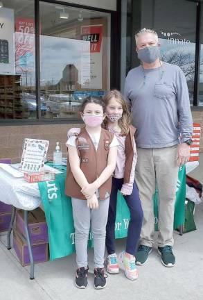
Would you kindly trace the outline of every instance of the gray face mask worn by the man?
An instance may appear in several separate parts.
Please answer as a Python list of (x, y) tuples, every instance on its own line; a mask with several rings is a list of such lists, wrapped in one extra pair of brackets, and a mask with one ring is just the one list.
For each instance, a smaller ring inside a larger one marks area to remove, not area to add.
[(137, 52), (137, 56), (144, 63), (154, 63), (159, 58), (159, 46), (145, 47)]

